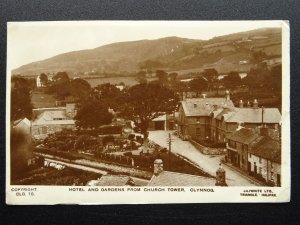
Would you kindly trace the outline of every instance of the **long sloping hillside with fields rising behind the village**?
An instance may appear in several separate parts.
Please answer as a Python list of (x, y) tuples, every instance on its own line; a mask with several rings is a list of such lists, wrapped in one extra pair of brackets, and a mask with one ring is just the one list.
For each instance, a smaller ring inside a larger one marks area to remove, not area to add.
[[(215, 37), (207, 41), (179, 37), (140, 40), (68, 52), (33, 62), (12, 71), (34, 75), (66, 71), (74, 76), (103, 73), (135, 73), (141, 68), (167, 71), (216, 68), (219, 72), (247, 71), (252, 66), (250, 50), (268, 57), (281, 56), (281, 30), (258, 29)], [(240, 61), (247, 61), (242, 64)]]

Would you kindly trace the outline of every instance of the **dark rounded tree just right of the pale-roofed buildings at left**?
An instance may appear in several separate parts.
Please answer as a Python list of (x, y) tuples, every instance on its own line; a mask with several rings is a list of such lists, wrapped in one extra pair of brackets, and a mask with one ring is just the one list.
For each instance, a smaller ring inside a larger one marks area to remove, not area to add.
[(113, 115), (101, 101), (90, 98), (78, 105), (74, 119), (79, 128), (97, 129), (99, 126), (110, 124)]

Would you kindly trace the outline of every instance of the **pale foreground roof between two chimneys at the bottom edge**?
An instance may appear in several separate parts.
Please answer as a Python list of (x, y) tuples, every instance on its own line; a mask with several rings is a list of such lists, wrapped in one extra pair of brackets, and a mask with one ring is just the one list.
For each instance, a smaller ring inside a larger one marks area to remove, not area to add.
[(162, 171), (153, 175), (148, 186), (215, 186), (215, 183), (213, 178)]

